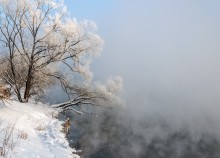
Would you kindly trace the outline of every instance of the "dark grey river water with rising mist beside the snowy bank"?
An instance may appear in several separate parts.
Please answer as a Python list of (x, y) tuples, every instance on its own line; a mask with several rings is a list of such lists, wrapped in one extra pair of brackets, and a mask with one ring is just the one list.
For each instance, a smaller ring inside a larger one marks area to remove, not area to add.
[(65, 115), (72, 121), (67, 138), (82, 158), (220, 158), (219, 139), (208, 133), (194, 138), (163, 120), (135, 120), (115, 110)]

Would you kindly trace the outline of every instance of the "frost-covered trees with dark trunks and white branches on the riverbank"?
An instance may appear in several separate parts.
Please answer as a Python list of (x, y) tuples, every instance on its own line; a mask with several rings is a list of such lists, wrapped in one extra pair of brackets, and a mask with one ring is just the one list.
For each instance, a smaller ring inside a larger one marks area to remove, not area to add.
[(93, 82), (91, 57), (103, 44), (96, 30), (93, 21), (68, 17), (63, 1), (0, 0), (0, 82), (20, 102), (59, 83), (69, 96), (59, 105), (64, 109), (117, 98), (121, 78)]

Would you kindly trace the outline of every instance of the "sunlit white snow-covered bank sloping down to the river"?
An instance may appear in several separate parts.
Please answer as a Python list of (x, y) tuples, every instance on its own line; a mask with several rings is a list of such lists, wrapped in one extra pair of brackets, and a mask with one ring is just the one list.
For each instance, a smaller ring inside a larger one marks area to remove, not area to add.
[[(15, 124), (11, 142), (13, 150), (8, 150), (12, 158), (78, 158), (72, 154), (62, 121), (55, 118), (57, 112), (43, 104), (19, 103), (16, 101), (0, 103), (1, 130)], [(4, 134), (1, 135), (4, 137)], [(0, 152), (3, 138), (0, 141)], [(0, 153), (1, 154), (1, 153)]]

